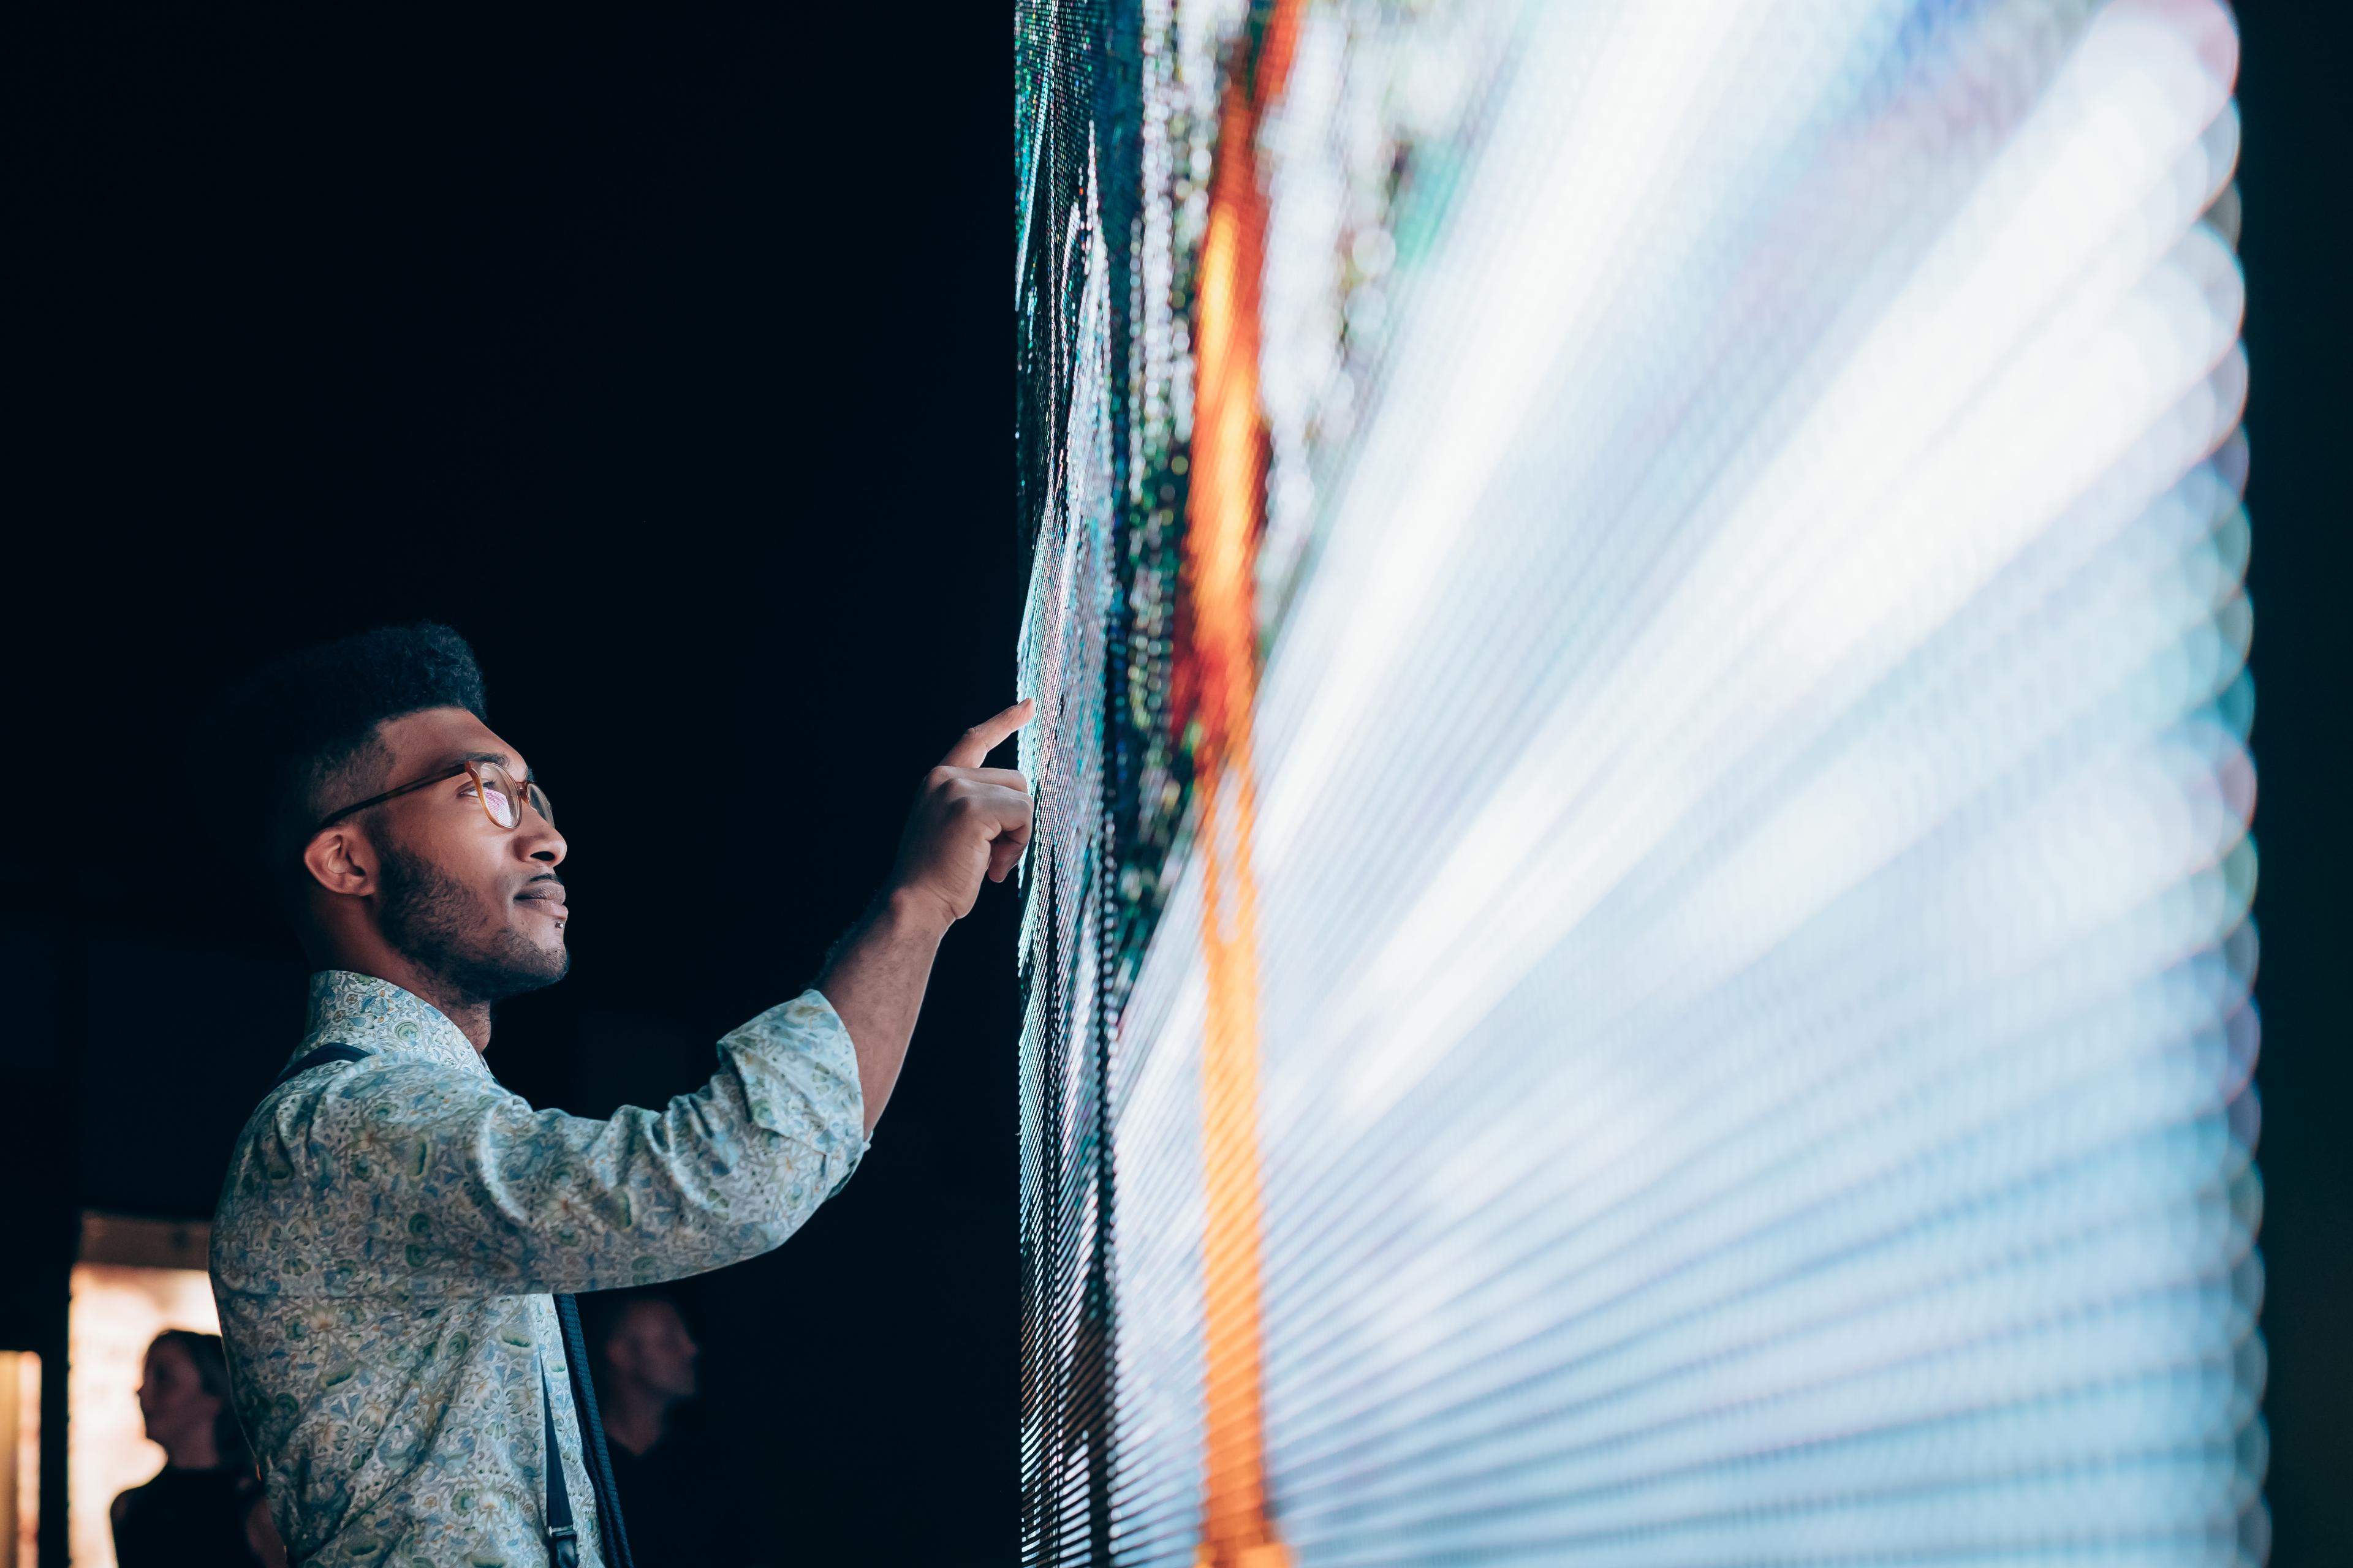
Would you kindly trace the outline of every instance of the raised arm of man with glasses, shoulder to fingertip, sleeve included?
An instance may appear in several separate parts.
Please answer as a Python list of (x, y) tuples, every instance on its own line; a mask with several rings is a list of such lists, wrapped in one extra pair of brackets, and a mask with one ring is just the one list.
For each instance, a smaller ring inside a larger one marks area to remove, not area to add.
[(965, 731), (925, 778), (892, 882), (819, 987), (727, 1034), (711, 1081), (661, 1110), (605, 1121), (532, 1110), (487, 1072), (414, 1053), (294, 1079), (231, 1173), (240, 1220), (273, 1237), (252, 1255), (285, 1262), (245, 1276), (231, 1248), (221, 1286), (609, 1291), (781, 1244), (856, 1168), (941, 933), (1028, 844), (1021, 776), (981, 766), (1026, 719), (1019, 703)]

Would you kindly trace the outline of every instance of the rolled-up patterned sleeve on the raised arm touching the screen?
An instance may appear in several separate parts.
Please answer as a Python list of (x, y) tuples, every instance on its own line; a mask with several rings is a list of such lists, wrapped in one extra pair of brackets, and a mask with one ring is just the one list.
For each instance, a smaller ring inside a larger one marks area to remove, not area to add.
[[(755, 1258), (866, 1152), (849, 1030), (821, 992), (720, 1041), (708, 1084), (607, 1121), (388, 1053), (287, 1105), (256, 1150), (311, 1206), (313, 1288), (612, 1291)], [(308, 1180), (301, 1180), (308, 1178)]]

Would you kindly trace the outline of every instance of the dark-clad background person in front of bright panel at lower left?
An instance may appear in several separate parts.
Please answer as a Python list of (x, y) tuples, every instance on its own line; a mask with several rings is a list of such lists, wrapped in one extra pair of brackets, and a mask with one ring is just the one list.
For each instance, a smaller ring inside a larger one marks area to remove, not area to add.
[(285, 1568), (254, 1455), (228, 1408), (219, 1335), (155, 1335), (139, 1378), (139, 1418), (162, 1448), (162, 1472), (115, 1497), (120, 1568)]

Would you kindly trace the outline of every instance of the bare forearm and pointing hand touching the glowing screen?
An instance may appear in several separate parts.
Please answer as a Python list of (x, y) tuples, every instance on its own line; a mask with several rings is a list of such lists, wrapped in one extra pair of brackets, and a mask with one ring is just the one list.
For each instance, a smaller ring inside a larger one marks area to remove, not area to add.
[(816, 978), (856, 1046), (868, 1133), (899, 1081), (939, 938), (972, 912), (981, 877), (1005, 882), (1028, 844), (1028, 780), (981, 764), (1033, 708), (1021, 701), (974, 724), (925, 776), (889, 886)]

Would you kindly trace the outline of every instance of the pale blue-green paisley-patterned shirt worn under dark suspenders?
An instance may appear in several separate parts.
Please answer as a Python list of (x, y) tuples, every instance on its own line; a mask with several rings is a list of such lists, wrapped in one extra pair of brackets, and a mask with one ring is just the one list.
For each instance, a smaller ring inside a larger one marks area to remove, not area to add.
[(449, 1018), (369, 976), (311, 978), (294, 1056), (327, 1041), (372, 1056), (261, 1100), (212, 1222), (238, 1415), (287, 1554), (546, 1563), (546, 1373), (581, 1563), (602, 1566), (551, 1293), (793, 1234), (866, 1154), (849, 1032), (802, 992), (722, 1039), (708, 1084), (612, 1121), (532, 1110)]

